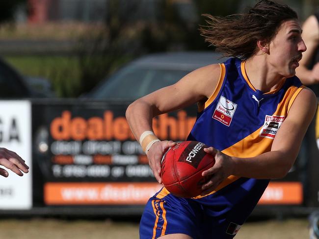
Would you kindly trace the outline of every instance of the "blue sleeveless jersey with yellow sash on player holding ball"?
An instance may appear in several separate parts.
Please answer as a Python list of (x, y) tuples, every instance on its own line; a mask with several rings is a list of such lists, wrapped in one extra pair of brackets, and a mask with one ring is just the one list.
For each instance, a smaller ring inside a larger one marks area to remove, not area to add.
[[(249, 82), (244, 61), (231, 58), (220, 64), (220, 69), (217, 87), (205, 103), (199, 104), (187, 140), (200, 141), (241, 158), (270, 151), (293, 100), (304, 86), (294, 76), (280, 82), (277, 89), (263, 93)], [(240, 205), (244, 218), (256, 206), (268, 183), (269, 180), (229, 176), (215, 191), (193, 200), (219, 207), (216, 216)], [(163, 188), (156, 197), (165, 200), (168, 195)]]

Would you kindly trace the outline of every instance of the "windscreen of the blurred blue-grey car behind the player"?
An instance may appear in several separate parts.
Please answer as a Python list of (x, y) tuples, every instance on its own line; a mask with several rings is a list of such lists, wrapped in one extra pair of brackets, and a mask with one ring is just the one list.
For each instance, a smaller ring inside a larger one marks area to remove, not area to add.
[(162, 87), (174, 84), (189, 71), (128, 67), (111, 77), (91, 95), (97, 99), (134, 100)]

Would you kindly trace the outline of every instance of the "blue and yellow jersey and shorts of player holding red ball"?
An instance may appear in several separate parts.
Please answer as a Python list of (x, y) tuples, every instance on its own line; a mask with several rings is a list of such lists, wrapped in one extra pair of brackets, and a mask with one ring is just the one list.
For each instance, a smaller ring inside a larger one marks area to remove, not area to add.
[[(235, 157), (254, 157), (271, 150), (280, 125), (304, 86), (294, 76), (264, 94), (254, 89), (244, 66), (245, 62), (237, 58), (220, 64), (217, 87), (199, 105), (187, 140), (203, 142)], [(193, 239), (232, 239), (268, 183), (265, 179), (229, 176), (210, 194), (190, 199), (162, 188), (146, 204), (140, 238), (183, 233)]]

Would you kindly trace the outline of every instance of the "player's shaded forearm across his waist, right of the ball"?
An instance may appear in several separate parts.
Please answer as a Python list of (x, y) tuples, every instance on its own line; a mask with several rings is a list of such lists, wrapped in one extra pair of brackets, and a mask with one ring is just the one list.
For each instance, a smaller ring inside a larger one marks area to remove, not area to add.
[(233, 175), (257, 179), (275, 179), (284, 177), (295, 159), (280, 151), (270, 151), (253, 158), (232, 157)]

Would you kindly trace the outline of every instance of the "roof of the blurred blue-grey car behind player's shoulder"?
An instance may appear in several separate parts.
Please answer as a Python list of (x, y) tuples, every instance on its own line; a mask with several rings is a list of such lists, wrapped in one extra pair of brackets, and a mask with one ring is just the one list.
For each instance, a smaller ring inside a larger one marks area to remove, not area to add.
[(183, 51), (149, 54), (134, 60), (130, 65), (136, 67), (194, 70), (223, 61), (225, 61), (225, 58), (222, 59), (221, 53), (213, 51)]

